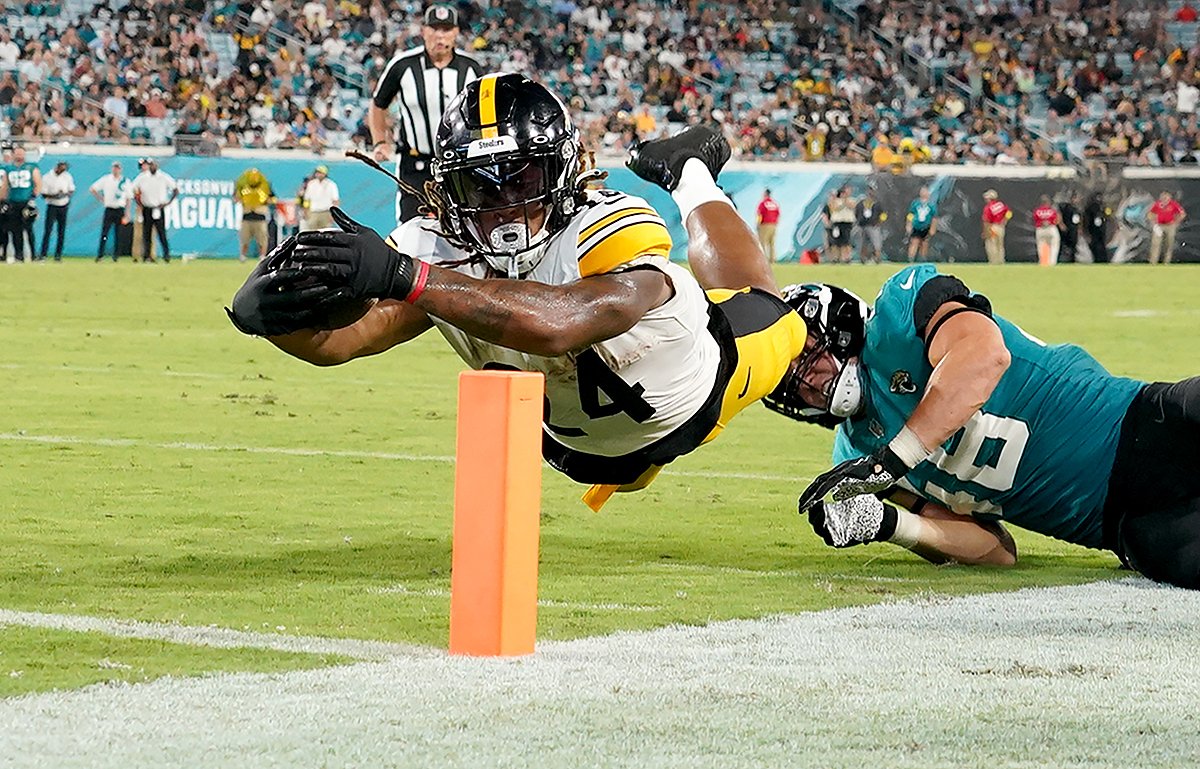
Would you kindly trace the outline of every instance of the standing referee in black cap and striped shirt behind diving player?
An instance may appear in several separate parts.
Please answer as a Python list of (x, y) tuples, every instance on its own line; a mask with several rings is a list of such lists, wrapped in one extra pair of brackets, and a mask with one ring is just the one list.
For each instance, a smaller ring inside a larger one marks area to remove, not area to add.
[[(442, 113), (482, 72), (478, 61), (455, 50), (458, 11), (452, 6), (426, 8), (421, 37), (424, 46), (397, 53), (384, 67), (367, 110), (376, 160), (385, 161), (395, 154), (396, 175), (416, 190), (422, 190), (431, 179), (433, 139)], [(388, 126), (392, 102), (397, 102), (398, 113), (395, 145)], [(415, 197), (398, 192), (396, 223), (415, 218), (420, 204)]]

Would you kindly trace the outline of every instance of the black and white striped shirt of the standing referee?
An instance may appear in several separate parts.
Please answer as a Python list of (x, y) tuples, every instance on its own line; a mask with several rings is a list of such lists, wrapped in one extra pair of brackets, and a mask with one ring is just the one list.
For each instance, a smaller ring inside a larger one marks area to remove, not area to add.
[(479, 62), (455, 50), (440, 70), (425, 55), (425, 48), (402, 50), (384, 68), (372, 96), (374, 106), (388, 109), (398, 100), (397, 145), (432, 156), (442, 113), (468, 83), (482, 73)]

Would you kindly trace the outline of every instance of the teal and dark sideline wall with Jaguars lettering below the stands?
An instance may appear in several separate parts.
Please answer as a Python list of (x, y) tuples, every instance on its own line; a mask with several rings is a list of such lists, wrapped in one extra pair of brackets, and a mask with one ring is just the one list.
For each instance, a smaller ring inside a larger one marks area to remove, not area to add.
[[(126, 172), (137, 168), (136, 155), (82, 155), (47, 152), (41, 158), (43, 173), (59, 160), (71, 164), (79, 191), (68, 212), (68, 254), (94, 254), (101, 222), (100, 203), (86, 193), (96, 179), (107, 174), (113, 161), (121, 161)], [(258, 167), (266, 175), (280, 198), (294, 199), (301, 181), (318, 162), (329, 166), (342, 194), (342, 208), (354, 218), (386, 233), (394, 226), (395, 186), (379, 172), (354, 160), (278, 158), (247, 160), (245, 157), (161, 157), (163, 170), (181, 186), (179, 198), (167, 211), (172, 251), (194, 257), (233, 258), (238, 254), (238, 224), (240, 205), (233, 199), (233, 182), (245, 169)], [(865, 168), (865, 167), (864, 167)], [(678, 210), (670, 196), (634, 176), (629, 170), (607, 168), (608, 186), (646, 198), (662, 212), (674, 240), (673, 258), (685, 258), (685, 234)], [(1022, 169), (1027, 173), (1028, 169)], [(1033, 227), (1030, 212), (1042, 194), (1062, 194), (1078, 191), (1084, 199), (1093, 191), (1102, 192), (1112, 209), (1109, 228), (1109, 251), (1118, 260), (1132, 256), (1145, 259), (1148, 242), (1146, 206), (1159, 190), (1177, 194), (1184, 206), (1198, 206), (1198, 216), (1189, 217), (1180, 232), (1178, 260), (1200, 262), (1200, 179), (1178, 176), (1147, 176), (1124, 179), (1117, 176), (1103, 186), (1062, 179), (1062, 169), (1049, 169), (1042, 176), (983, 176), (964, 175), (964, 167), (950, 167), (944, 174), (935, 167), (923, 168), (923, 175), (869, 174), (845, 166), (805, 166), (799, 163), (744, 163), (721, 175), (721, 185), (730, 194), (743, 218), (752, 223), (755, 210), (764, 188), (770, 188), (780, 203), (778, 250), (782, 259), (796, 259), (809, 248), (820, 248), (823, 240), (821, 208), (829, 191), (850, 186), (860, 194), (868, 185), (889, 212), (884, 251), (893, 258), (904, 253), (904, 212), (922, 185), (930, 185), (938, 202), (940, 227), (931, 251), (936, 259), (953, 256), (956, 262), (982, 262), (979, 211), (983, 191), (996, 188), (1014, 210), (1007, 239), (1012, 262), (1036, 262)], [(932, 172), (930, 175), (924, 175)], [(986, 174), (980, 167), (972, 173)], [(1000, 173), (1000, 172), (997, 172)], [(1052, 176), (1057, 174), (1058, 178)], [(40, 229), (38, 229), (40, 234)]]

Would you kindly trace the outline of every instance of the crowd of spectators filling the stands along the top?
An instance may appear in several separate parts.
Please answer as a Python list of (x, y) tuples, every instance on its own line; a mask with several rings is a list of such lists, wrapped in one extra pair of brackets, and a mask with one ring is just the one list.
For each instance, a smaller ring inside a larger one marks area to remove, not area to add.
[[(1200, 148), (1190, 0), (460, 0), (460, 46), (563, 94), (588, 146), (685, 124), (764, 158), (1144, 164)], [(0, 138), (364, 146), (415, 0), (31, 0), (0, 29)], [(1182, 19), (1182, 20), (1181, 20)], [(751, 23), (752, 22), (752, 23)]]

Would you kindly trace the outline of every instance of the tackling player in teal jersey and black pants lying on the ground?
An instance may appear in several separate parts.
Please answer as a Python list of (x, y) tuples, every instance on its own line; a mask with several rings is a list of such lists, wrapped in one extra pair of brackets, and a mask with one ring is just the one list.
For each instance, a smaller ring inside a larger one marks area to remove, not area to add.
[(763, 403), (838, 431), (836, 465), (799, 498), (826, 543), (1009, 565), (1004, 521), (1200, 588), (1200, 377), (1114, 377), (928, 264), (888, 280), (874, 308), (833, 286), (782, 294), (809, 338)]

